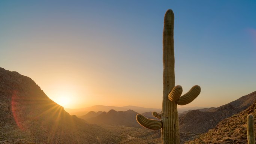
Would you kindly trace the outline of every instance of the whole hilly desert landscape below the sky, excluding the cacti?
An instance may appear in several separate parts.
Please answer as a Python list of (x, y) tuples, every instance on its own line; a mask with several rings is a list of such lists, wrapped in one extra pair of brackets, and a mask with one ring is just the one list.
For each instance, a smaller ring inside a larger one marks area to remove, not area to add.
[[(193, 138), (200, 144), (246, 144), (246, 117), (256, 117), (255, 99), (256, 91), (217, 108), (179, 113), (181, 144), (193, 143)], [(131, 106), (122, 107), (124, 111), (94, 106), (95, 111), (82, 116), (70, 115), (32, 79), (4, 68), (0, 68), (0, 108), (1, 144), (161, 144), (160, 130), (140, 126), (138, 113), (127, 110)], [(140, 108), (140, 113), (157, 119), (147, 110), (142, 113)]]

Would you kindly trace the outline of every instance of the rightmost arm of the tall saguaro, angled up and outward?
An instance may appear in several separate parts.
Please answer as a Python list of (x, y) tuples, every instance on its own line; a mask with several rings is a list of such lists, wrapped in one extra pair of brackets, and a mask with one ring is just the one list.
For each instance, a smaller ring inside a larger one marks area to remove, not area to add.
[(180, 98), (176, 101), (178, 105), (185, 105), (192, 102), (201, 92), (201, 88), (198, 85), (193, 86), (189, 92), (180, 96)]

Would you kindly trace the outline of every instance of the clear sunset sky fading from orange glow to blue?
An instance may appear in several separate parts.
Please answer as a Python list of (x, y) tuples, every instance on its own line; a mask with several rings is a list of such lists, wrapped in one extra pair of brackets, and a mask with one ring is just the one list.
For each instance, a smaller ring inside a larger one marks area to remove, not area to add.
[(162, 30), (174, 11), (176, 85), (217, 107), (256, 91), (256, 1), (1, 0), (0, 67), (67, 108), (161, 108)]

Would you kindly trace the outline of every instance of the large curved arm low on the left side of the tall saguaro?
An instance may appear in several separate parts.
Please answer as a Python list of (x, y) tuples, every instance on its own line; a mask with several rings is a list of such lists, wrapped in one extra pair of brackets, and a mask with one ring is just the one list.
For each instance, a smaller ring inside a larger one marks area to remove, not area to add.
[(145, 128), (155, 129), (155, 130), (162, 128), (162, 123), (160, 121), (148, 119), (144, 117), (142, 114), (137, 114), (136, 120), (141, 126), (144, 126)]

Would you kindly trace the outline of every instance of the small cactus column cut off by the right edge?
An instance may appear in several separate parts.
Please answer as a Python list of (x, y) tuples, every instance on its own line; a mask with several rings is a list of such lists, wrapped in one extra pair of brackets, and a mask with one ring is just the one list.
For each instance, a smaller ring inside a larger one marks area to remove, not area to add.
[(252, 114), (247, 116), (247, 141), (248, 144), (255, 144), (254, 117)]

